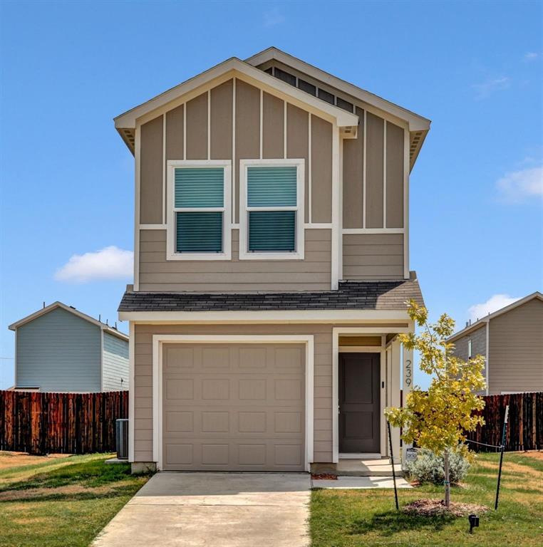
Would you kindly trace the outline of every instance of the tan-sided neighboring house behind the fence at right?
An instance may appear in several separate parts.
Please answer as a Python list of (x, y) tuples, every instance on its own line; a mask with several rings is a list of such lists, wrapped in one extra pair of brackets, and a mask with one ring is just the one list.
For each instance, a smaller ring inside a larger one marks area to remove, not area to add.
[(452, 335), (454, 355), (485, 358), (485, 395), (543, 391), (543, 294), (526, 298)]

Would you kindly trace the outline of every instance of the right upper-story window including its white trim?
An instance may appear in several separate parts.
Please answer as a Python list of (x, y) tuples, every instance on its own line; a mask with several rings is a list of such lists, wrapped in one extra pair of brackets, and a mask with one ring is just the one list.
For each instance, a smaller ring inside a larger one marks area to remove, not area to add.
[(304, 160), (242, 160), (239, 258), (304, 259)]

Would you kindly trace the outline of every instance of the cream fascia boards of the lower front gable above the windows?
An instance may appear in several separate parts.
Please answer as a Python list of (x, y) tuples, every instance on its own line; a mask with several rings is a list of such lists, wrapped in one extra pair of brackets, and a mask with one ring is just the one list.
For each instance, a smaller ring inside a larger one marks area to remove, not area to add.
[(244, 61), (235, 57), (229, 58), (227, 61), (219, 63), (217, 66), (190, 78), (190, 80), (176, 85), (175, 88), (171, 88), (170, 90), (157, 95), (146, 103), (118, 115), (114, 118), (115, 127), (118, 129), (135, 128), (136, 120), (139, 118), (142, 118), (153, 110), (165, 107), (165, 105), (182, 97), (182, 95), (187, 95), (230, 71), (232, 71), (232, 76), (247, 80), (248, 83), (251, 83), (252, 80), (258, 85), (264, 85), (270, 93), (285, 95), (289, 98), (289, 102), (296, 106), (306, 110), (308, 110), (309, 107), (309, 110), (314, 110), (315, 112), (321, 113), (321, 115), (324, 114), (327, 118), (333, 118), (336, 120), (338, 127), (358, 127), (357, 115), (326, 103), (308, 93), (304, 93), (304, 91), (294, 88), (292, 85), (278, 80), (272, 75), (260, 71), (258, 68), (254, 68), (254, 66), (244, 63)]

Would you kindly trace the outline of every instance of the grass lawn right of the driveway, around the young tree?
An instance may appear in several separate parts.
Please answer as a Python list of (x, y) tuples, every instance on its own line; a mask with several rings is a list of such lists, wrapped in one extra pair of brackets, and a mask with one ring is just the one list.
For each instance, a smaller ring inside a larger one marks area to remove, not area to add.
[[(540, 454), (539, 454), (540, 456)], [(471, 536), (466, 517), (428, 518), (395, 511), (394, 491), (323, 490), (311, 493), (312, 547), (540, 546), (543, 544), (543, 459), (505, 454), (500, 505), (494, 511), (498, 454), (481, 454), (452, 501), (485, 505)], [(398, 491), (400, 509), (420, 498), (443, 499), (443, 487)]]

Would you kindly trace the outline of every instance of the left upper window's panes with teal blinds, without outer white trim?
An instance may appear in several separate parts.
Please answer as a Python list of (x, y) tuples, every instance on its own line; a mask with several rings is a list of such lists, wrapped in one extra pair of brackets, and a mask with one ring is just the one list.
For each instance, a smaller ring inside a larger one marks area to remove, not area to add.
[(222, 253), (224, 169), (177, 168), (174, 184), (175, 251)]

